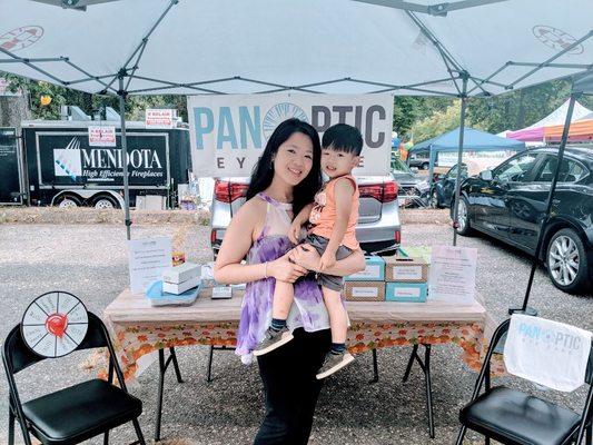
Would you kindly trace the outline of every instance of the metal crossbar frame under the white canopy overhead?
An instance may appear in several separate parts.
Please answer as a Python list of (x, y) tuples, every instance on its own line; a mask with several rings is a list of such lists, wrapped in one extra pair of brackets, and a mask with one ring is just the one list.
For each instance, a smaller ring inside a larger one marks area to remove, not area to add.
[[(437, 4), (432, 4), (432, 6), (412, 3), (412, 2), (406, 2), (406, 1), (402, 1), (402, 0), (355, 0), (355, 1), (358, 1), (358, 2), (362, 2), (362, 3), (370, 3), (370, 4), (376, 4), (376, 6), (383, 6), (383, 7), (404, 10), (406, 12), (406, 14), (411, 18), (411, 20), (415, 23), (415, 26), (418, 28), (418, 30), (431, 41), (431, 43), (436, 48), (436, 50), (441, 55), (441, 58), (443, 59), (443, 63), (447, 68), (447, 71), (449, 72), (449, 76), (451, 76), (451, 79), (446, 79), (446, 80), (451, 80), (453, 82), (453, 85), (455, 86), (455, 89), (457, 90), (457, 93), (417, 88), (417, 87), (422, 87), (422, 86), (434, 85), (434, 83), (437, 83), (439, 81), (442, 82), (444, 79), (429, 80), (429, 81), (426, 81), (426, 82), (415, 83), (415, 85), (389, 85), (389, 83), (384, 83), (384, 82), (375, 82), (372, 79), (353, 79), (353, 78), (346, 77), (346, 78), (342, 78), (342, 79), (322, 80), (322, 81), (316, 82), (316, 83), (288, 86), (288, 85), (270, 83), (270, 82), (267, 82), (265, 80), (259, 80), (259, 79), (249, 79), (249, 78), (245, 78), (245, 77), (241, 77), (241, 76), (234, 76), (234, 77), (228, 77), (228, 78), (224, 78), (224, 79), (198, 80), (198, 81), (191, 81), (191, 82), (175, 82), (175, 81), (170, 81), (170, 80), (166, 80), (166, 79), (151, 79), (151, 78), (137, 76), (136, 71), (140, 67), (140, 61), (141, 61), (142, 55), (145, 52), (145, 49), (149, 44), (151, 34), (155, 32), (155, 30), (157, 30), (159, 24), (164, 21), (166, 16), (169, 13), (169, 11), (171, 11), (171, 9), (175, 6), (177, 6), (179, 3), (179, 1), (180, 0), (170, 0), (169, 1), (167, 7), (165, 8), (165, 10), (155, 20), (155, 22), (152, 23), (152, 26), (150, 27), (148, 32), (140, 39), (140, 42), (135, 47), (135, 50), (128, 57), (128, 59), (126, 60), (123, 66), (119, 69), (118, 72), (116, 72), (113, 75), (101, 75), (101, 76), (91, 75), (90, 72), (88, 72), (88, 70), (83, 69), (79, 65), (76, 65), (75, 62), (72, 62), (70, 60), (70, 58), (68, 58), (66, 56), (28, 59), (28, 58), (21, 58), (21, 57), (14, 55), (13, 52), (11, 52), (11, 51), (9, 51), (9, 50), (7, 50), (4, 48), (1, 48), (1, 47), (0, 47), (0, 52), (2, 52), (6, 56), (8, 56), (9, 59), (0, 59), (0, 67), (3, 63), (20, 62), (20, 63), (23, 63), (23, 65), (28, 66), (29, 68), (40, 72), (40, 73), (42, 73), (43, 76), (47, 76), (48, 78), (52, 79), (56, 83), (61, 85), (63, 87), (70, 87), (72, 85), (78, 85), (78, 83), (82, 83), (85, 81), (95, 80), (95, 81), (99, 82), (101, 86), (105, 87), (102, 90), (98, 90), (95, 93), (97, 93), (97, 95), (108, 95), (108, 96), (109, 95), (111, 95), (111, 96), (119, 96), (120, 95), (120, 91), (116, 90), (113, 88), (113, 83), (123, 73), (125, 77), (127, 78), (127, 81), (126, 81), (126, 86), (125, 86), (122, 91), (126, 91), (127, 95), (147, 93), (147, 92), (150, 92), (150, 91), (161, 91), (164, 89), (162, 87), (161, 88), (155, 87), (154, 89), (151, 89), (151, 88), (142, 88), (142, 89), (137, 89), (137, 90), (129, 90), (129, 87), (130, 87), (130, 83), (131, 83), (132, 79), (139, 79), (139, 80), (147, 80), (147, 81), (151, 81), (151, 82), (155, 82), (155, 83), (165, 85), (165, 86), (167, 86), (166, 89), (185, 88), (185, 89), (189, 89), (189, 90), (197, 91), (197, 92), (200, 92), (200, 93), (211, 93), (211, 95), (224, 95), (225, 92), (218, 91), (218, 90), (213, 90), (213, 89), (200, 88), (200, 87), (197, 87), (197, 86), (198, 85), (208, 85), (208, 83), (221, 83), (221, 82), (239, 80), (239, 81), (249, 82), (249, 83), (257, 83), (257, 85), (261, 85), (261, 86), (275, 87), (275, 89), (273, 89), (273, 90), (260, 90), (260, 91), (257, 91), (258, 93), (281, 92), (281, 91), (293, 91), (293, 90), (294, 91), (302, 91), (302, 92), (319, 93), (319, 91), (307, 90), (307, 88), (310, 88), (310, 87), (314, 87), (314, 86), (318, 87), (318, 86), (332, 85), (332, 83), (336, 83), (336, 82), (354, 82), (354, 83), (360, 83), (360, 85), (374, 85), (374, 86), (378, 86), (378, 87), (384, 87), (383, 89), (379, 89), (379, 90), (376, 90), (376, 91), (370, 91), (370, 93), (395, 92), (395, 91), (403, 90), (403, 91), (421, 92), (421, 93), (426, 93), (426, 95), (438, 95), (438, 96), (448, 96), (448, 97), (458, 97), (458, 98), (467, 97), (467, 96), (472, 95), (472, 92), (474, 92), (477, 89), (481, 90), (480, 95), (482, 95), (482, 96), (486, 96), (486, 97), (487, 96), (493, 96), (490, 91), (487, 91), (484, 88), (484, 85), (488, 85), (488, 83), (493, 85), (493, 86), (497, 86), (500, 88), (504, 88), (505, 90), (513, 90), (518, 82), (521, 82), (521, 81), (525, 80), (526, 78), (535, 75), (537, 71), (540, 71), (540, 70), (542, 70), (544, 68), (551, 68), (551, 69), (555, 69), (555, 68), (559, 68), (559, 69), (566, 69), (566, 68), (581, 69), (581, 68), (583, 68), (585, 70), (589, 70), (589, 69), (591, 69), (593, 67), (593, 63), (592, 65), (553, 63), (554, 60), (556, 60), (557, 58), (562, 57), (566, 52), (571, 51), (572, 49), (574, 49), (579, 44), (583, 43), (584, 41), (586, 41), (591, 37), (593, 37), (593, 29), (592, 29), (589, 32), (586, 32), (584, 36), (582, 36), (581, 38), (576, 39), (573, 43), (571, 43), (570, 46), (567, 46), (567, 47), (563, 48), (562, 50), (557, 51), (554, 56), (550, 57), (547, 60), (545, 60), (545, 61), (543, 61), (541, 63), (531, 62), (531, 61), (507, 61), (502, 67), (496, 69), (493, 73), (487, 76), (486, 78), (478, 78), (478, 77), (473, 76), (468, 70), (464, 69), (461, 66), (461, 63), (455, 60), (455, 58), (452, 56), (451, 51), (448, 51), (448, 49), (443, 44), (443, 42), (436, 36), (434, 36), (433, 32), (429, 31), (429, 29), (426, 27), (426, 24), (414, 12), (421, 12), (421, 13), (427, 13), (427, 14), (431, 14), (431, 16), (443, 16), (444, 17), (444, 16), (446, 16), (446, 12), (448, 12), (448, 11), (454, 11), (454, 10), (459, 10), (459, 9), (467, 9), (467, 8), (475, 8), (475, 7), (480, 7), (480, 6), (484, 6), (484, 4), (497, 3), (497, 2), (508, 1), (508, 0), (461, 0), (461, 1), (457, 1), (457, 2), (437, 3)], [(435, 13), (435, 11), (441, 11), (443, 13)], [(130, 65), (132, 62), (132, 60), (134, 60), (134, 63)], [(81, 79), (76, 79), (73, 81), (69, 81), (69, 80), (66, 80), (66, 79), (60, 79), (60, 78), (51, 75), (50, 72), (48, 72), (43, 68), (39, 67), (38, 65), (36, 65), (36, 63), (43, 63), (43, 62), (48, 62), (48, 61), (53, 61), (53, 62), (58, 61), (58, 62), (67, 63), (70, 67), (75, 68), (77, 71), (80, 71), (82, 75), (85, 75), (87, 77), (86, 78), (81, 78)], [(497, 82), (496, 80), (494, 80), (494, 78), (496, 76), (498, 76), (501, 72), (503, 72), (505, 69), (507, 69), (510, 67), (533, 67), (533, 69), (530, 70), (528, 72), (520, 76), (518, 78), (516, 78), (511, 83), (502, 83), (502, 82)], [(110, 81), (108, 81), (108, 82), (103, 81), (103, 79), (109, 79), (109, 78), (111, 78)], [(462, 90), (459, 88), (458, 83), (459, 82), (463, 83), (464, 78), (467, 78), (467, 80), (471, 81), (474, 85), (471, 89)]]

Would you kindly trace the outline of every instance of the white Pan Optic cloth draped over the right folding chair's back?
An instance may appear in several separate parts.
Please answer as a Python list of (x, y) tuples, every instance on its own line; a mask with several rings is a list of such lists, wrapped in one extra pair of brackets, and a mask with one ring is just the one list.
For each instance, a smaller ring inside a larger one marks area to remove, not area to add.
[(591, 333), (545, 318), (513, 315), (504, 346), (510, 374), (572, 392), (585, 382)]

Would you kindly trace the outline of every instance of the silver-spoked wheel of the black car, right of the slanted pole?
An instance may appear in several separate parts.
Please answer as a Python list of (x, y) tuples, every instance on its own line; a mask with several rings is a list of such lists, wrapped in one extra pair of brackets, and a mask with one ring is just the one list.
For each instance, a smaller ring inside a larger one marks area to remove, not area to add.
[(554, 286), (576, 294), (589, 284), (589, 264), (583, 241), (573, 229), (559, 230), (547, 245), (547, 271)]

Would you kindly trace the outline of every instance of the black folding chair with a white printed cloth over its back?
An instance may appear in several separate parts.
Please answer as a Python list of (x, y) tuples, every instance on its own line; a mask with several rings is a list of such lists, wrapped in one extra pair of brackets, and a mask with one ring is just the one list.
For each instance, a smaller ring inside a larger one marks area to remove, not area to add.
[[(467, 429), (483, 434), (486, 444), (493, 438), (503, 444), (564, 445), (581, 444), (586, 432), (586, 445), (592, 439), (593, 348), (590, 352), (585, 383), (589, 392), (581, 414), (543, 398), (505, 386), (491, 387), (490, 362), (493, 353), (502, 353), (511, 320), (495, 330), (482, 365), (472, 400), (459, 412), (462, 428), (457, 445)], [(485, 382), (485, 392), (481, 393)]]

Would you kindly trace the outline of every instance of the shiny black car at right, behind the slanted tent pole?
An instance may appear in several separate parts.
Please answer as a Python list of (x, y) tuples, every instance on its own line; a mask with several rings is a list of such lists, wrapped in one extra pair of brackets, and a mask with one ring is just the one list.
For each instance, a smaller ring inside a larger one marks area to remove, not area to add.
[[(557, 148), (523, 151), (462, 184), (458, 234), (473, 229), (534, 255)], [(566, 147), (542, 260), (565, 291), (591, 290), (593, 278), (593, 148)]]

